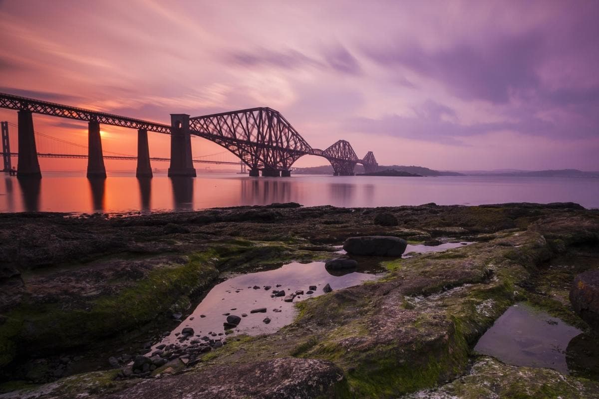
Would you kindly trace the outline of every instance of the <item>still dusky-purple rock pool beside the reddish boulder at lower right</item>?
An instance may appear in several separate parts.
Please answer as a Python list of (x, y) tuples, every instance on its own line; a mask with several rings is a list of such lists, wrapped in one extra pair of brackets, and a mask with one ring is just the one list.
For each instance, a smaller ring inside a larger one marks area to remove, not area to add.
[(510, 306), (474, 350), (513, 366), (553, 368), (569, 374), (565, 351), (581, 331), (521, 302)]

